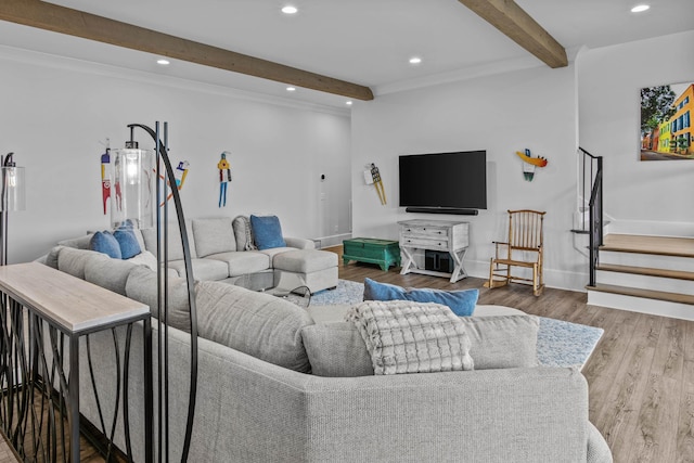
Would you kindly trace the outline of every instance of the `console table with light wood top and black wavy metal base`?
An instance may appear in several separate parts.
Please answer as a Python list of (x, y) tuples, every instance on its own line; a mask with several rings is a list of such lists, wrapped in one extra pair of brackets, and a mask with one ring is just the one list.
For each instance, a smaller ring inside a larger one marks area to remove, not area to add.
[[(38, 262), (0, 266), (0, 380), (4, 388), (0, 425), (24, 460), (79, 462), (79, 337), (127, 325), (129, 346), (133, 323), (143, 321), (144, 346), (151, 352), (150, 308)], [(126, 351), (125, 372), (128, 357)], [(145, 371), (151, 368), (150, 359), (144, 356)], [(125, 391), (127, 373), (118, 380)], [(149, 382), (143, 388), (145, 409), (152, 411), (152, 376), (144, 380)], [(124, 394), (123, 410), (127, 409)], [(151, 446), (151, 420), (145, 428), (145, 446)]]

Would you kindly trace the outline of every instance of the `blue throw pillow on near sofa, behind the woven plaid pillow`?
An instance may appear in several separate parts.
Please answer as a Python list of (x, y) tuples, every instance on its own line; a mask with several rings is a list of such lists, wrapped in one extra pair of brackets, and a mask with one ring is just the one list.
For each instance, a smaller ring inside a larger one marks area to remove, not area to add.
[(364, 280), (364, 300), (411, 300), (413, 303), (436, 303), (450, 307), (458, 317), (470, 317), (475, 311), (479, 290), (417, 290), (404, 288), (388, 283)]

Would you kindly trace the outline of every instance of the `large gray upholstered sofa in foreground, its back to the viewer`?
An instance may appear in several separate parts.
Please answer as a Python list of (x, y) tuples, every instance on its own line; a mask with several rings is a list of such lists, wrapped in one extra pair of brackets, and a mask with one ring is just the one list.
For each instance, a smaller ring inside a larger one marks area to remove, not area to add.
[[(70, 247), (57, 249), (54, 257), (47, 262), (63, 271), (149, 305), (155, 300), (154, 272), (145, 266)], [(174, 325), (168, 330), (168, 385), (169, 445), (176, 460), (183, 441), (191, 359), (190, 337), (182, 331), (184, 281), (171, 280), (166, 310)], [(340, 345), (355, 340), (348, 323), (316, 323), (333, 319), (331, 306), (307, 311), (216, 281), (198, 281), (195, 290), (198, 389), (191, 462), (612, 461), (588, 421), (588, 385), (580, 372), (537, 368), (534, 359), (514, 353), (535, 348), (538, 322), (532, 317), (467, 318), (474, 371), (373, 375), (352, 370), (349, 377), (331, 377), (311, 374), (312, 356), (339, 347), (355, 353), (340, 355), (348, 366), (363, 350)], [(141, 329), (137, 325), (132, 336), (128, 385), (136, 461), (142, 461), (144, 451)], [(125, 331), (118, 329), (117, 336), (123, 351)], [(101, 402), (112, 404), (113, 335), (101, 332), (89, 338), (91, 357), (99, 359), (93, 366)], [(153, 339), (156, 345), (156, 324)], [(98, 424), (81, 343), (80, 411)], [(103, 407), (103, 413), (111, 422), (111, 407)], [(120, 425), (115, 441), (125, 449)]]

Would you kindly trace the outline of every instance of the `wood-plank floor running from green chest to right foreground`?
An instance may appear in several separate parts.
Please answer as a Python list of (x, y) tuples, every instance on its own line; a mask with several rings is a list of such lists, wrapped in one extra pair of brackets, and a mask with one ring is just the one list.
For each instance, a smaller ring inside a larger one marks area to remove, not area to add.
[(583, 375), (590, 389), (590, 420), (605, 436), (614, 461), (694, 462), (694, 322), (588, 306), (584, 293), (545, 288), (535, 297), (525, 285), (487, 290), (481, 279), (449, 283), (442, 278), (400, 275), (399, 270), (340, 263), (339, 278), (442, 290), (478, 287), (479, 304), (602, 327), (605, 333)]

